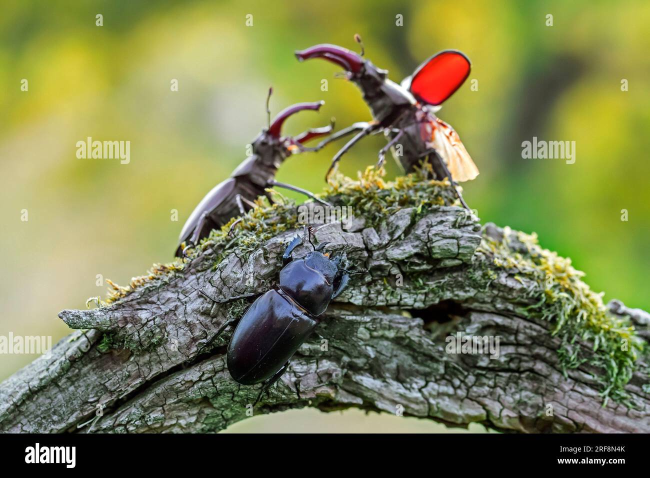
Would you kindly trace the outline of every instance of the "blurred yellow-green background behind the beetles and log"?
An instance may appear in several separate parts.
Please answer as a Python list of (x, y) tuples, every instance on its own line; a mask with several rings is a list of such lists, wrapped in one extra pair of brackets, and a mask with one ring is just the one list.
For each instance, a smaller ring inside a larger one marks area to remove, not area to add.
[[(96, 14), (103, 14), (102, 27)], [(324, 126), (330, 116), (337, 127), (368, 120), (356, 86), (333, 79), (335, 66), (300, 64), (292, 55), (322, 42), (355, 49), (354, 33), (395, 81), (436, 51), (465, 52), (478, 91), (468, 81), (439, 116), (456, 128), (481, 171), (463, 185), (467, 202), (484, 221), (537, 232), (543, 246), (586, 271), (606, 300), (650, 309), (649, 26), (647, 1), (5, 0), (0, 335), (57, 341), (68, 333), (57, 312), (104, 294), (97, 274), (126, 284), (151, 263), (171, 259), (189, 213), (265, 126), (269, 85), (272, 114), (297, 101), (326, 101), (320, 114), (292, 118), (286, 133)], [(21, 79), (29, 91), (21, 91)], [(88, 136), (130, 140), (131, 163), (77, 159), (75, 143)], [(534, 136), (574, 140), (575, 164), (522, 159), (521, 142)], [(354, 174), (374, 163), (383, 144), (382, 137), (364, 140), (341, 170)], [(341, 145), (288, 159), (278, 179), (320, 191)], [(388, 174), (396, 172), (391, 160)], [(621, 221), (621, 209), (629, 221)], [(0, 356), (0, 379), (33, 358)], [(303, 410), (231, 430), (445, 428), (358, 410)]]

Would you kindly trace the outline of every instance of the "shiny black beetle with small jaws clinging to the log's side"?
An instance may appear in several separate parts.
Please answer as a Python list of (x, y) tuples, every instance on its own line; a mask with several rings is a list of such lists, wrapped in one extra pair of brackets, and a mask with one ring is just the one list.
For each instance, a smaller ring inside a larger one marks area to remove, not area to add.
[[(304, 237), (296, 236), (287, 245), (282, 255), (279, 287), (255, 299), (239, 320), (228, 345), (226, 363), (231, 377), (242, 385), (263, 382), (255, 403), (285, 373), (293, 354), (318, 325), (318, 316), (345, 289), (350, 275), (363, 273), (348, 271), (344, 256), (330, 258), (330, 253), (325, 252), (329, 243), (314, 246), (312, 232), (311, 226), (305, 228)], [(305, 239), (312, 250), (301, 258), (292, 259), (291, 252)], [(259, 295), (244, 294), (217, 300), (203, 289), (200, 293), (220, 304)]]

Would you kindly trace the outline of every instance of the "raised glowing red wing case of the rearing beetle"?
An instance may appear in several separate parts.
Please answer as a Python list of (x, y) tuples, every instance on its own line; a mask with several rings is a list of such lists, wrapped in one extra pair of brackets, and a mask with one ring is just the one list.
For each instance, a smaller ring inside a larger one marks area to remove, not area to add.
[(470, 70), (471, 63), (463, 53), (445, 50), (425, 60), (402, 85), (408, 85), (418, 101), (440, 105), (465, 83)]

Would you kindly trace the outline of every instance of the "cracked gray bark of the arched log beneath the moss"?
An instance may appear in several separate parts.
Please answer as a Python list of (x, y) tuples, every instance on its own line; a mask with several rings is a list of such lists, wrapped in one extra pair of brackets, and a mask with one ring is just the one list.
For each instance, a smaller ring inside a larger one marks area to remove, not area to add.
[[(507, 271), (489, 282), (476, 279), (491, 257), (476, 250), (482, 230), (475, 218), (458, 207), (414, 218), (412, 209), (402, 209), (377, 228), (362, 219), (348, 230), (339, 223), (317, 226), (318, 241), (330, 241), (332, 250), (344, 250), (352, 265), (369, 273), (354, 276), (330, 305), (254, 414), (304, 406), (394, 414), (401, 407), (405, 416), (459, 427), (650, 432), (643, 373), (626, 386), (636, 409), (614, 401), (603, 407), (596, 380), (602, 372), (583, 364), (564, 377), (551, 325), (526, 313), (534, 303), (526, 291), (534, 284)], [(485, 233), (503, 231), (487, 225)], [(218, 251), (208, 247), (172, 278), (112, 306), (64, 310), (59, 317), (68, 326), (87, 330), (73, 332), (51, 358), (1, 384), (0, 430), (86, 432), (90, 425), (77, 427), (93, 419), (98, 406), (103, 415), (92, 432), (211, 432), (246, 418), (259, 386), (239, 386), (229, 377), (232, 326), (216, 336), (233, 305), (214, 304), (198, 289), (224, 299), (265, 292), (295, 234), (274, 237), (250, 255), (232, 250), (216, 269)], [(647, 329), (646, 312), (618, 301), (610, 309)], [(447, 354), (445, 337), (459, 331), (500, 336), (500, 357)], [(105, 333), (119, 347), (102, 352)], [(646, 331), (640, 335), (648, 339)], [(590, 345), (581, 346), (590, 353)]]

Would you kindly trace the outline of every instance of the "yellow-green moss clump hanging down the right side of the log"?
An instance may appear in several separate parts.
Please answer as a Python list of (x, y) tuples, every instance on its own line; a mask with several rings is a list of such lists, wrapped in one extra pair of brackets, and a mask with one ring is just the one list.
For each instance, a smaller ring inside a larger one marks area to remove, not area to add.
[[(623, 387), (632, 377), (643, 341), (629, 319), (608, 312), (603, 294), (591, 291), (582, 280), (584, 272), (574, 269), (571, 259), (541, 248), (536, 235), (510, 228), (504, 228), (501, 241), (484, 235), (479, 250), (493, 255), (495, 267), (536, 283), (530, 295), (537, 302), (528, 312), (554, 325), (552, 334), (562, 340), (558, 355), (565, 374), (584, 362), (603, 368), (605, 377), (597, 379), (603, 384), (604, 405), (610, 397), (625, 400)], [(590, 344), (590, 358), (580, 342)]]

